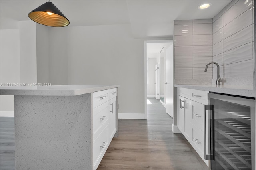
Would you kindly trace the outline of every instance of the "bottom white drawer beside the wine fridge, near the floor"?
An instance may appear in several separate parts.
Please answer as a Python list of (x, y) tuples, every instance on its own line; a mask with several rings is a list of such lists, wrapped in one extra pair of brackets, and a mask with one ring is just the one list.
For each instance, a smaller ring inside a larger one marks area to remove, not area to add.
[(204, 132), (192, 125), (192, 146), (198, 154), (204, 156)]

